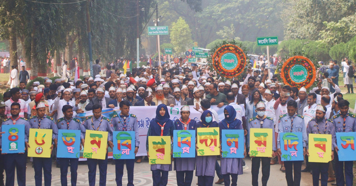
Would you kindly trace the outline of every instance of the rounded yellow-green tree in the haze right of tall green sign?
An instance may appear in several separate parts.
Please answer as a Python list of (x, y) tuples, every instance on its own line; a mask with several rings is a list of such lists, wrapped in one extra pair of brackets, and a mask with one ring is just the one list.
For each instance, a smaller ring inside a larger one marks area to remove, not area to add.
[(192, 30), (182, 17), (171, 26), (171, 44), (177, 53), (184, 52), (192, 44)]

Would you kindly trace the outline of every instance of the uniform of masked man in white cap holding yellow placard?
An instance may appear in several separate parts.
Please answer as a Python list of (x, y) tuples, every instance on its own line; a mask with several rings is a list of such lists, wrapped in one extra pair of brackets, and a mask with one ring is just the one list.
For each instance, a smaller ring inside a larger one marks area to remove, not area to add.
[[(248, 122), (248, 131), (251, 128), (266, 128), (266, 129), (274, 129), (273, 119), (263, 116), (263, 119), (253, 117)], [(250, 133), (248, 134), (248, 137)], [(250, 138), (248, 138), (250, 139)], [(272, 131), (272, 139), (274, 139), (274, 133)], [(249, 141), (248, 141), (249, 143)], [(250, 144), (248, 144), (250, 146)], [(276, 143), (272, 143), (272, 150), (276, 151)], [(252, 166), (251, 166), (251, 174), (252, 174), (252, 186), (258, 186), (258, 173), (260, 171), (260, 161), (262, 162), (262, 186), (267, 185), (267, 181), (269, 179), (269, 170), (271, 167), (271, 158), (269, 157), (254, 157), (252, 158)]]

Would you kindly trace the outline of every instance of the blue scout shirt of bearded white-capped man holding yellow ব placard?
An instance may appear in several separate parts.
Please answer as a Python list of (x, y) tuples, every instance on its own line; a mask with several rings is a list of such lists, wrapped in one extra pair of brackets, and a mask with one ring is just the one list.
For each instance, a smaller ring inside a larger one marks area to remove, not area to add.
[[(326, 118), (324, 118), (320, 122), (317, 122), (316, 119), (310, 120), (307, 126), (307, 134), (331, 134), (331, 150), (333, 151), (334, 147), (337, 146), (335, 126), (333, 123), (330, 122), (330, 120), (326, 120)], [(307, 148), (309, 148), (308, 146), (309, 143), (307, 143)]]

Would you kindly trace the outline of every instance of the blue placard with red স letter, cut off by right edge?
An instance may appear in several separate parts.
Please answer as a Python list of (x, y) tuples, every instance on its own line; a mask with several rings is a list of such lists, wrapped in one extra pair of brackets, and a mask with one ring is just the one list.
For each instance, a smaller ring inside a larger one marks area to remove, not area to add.
[(356, 132), (336, 133), (336, 144), (339, 148), (339, 161), (355, 161), (355, 138)]

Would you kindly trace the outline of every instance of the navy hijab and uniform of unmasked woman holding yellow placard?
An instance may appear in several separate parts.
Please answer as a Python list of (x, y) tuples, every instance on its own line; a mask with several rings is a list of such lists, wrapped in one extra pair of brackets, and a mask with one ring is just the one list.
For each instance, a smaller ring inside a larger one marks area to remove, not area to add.
[[(164, 116), (159, 114), (161, 108), (166, 110)], [(163, 128), (163, 130), (162, 130)], [(161, 104), (157, 106), (156, 118), (151, 119), (147, 131), (146, 149), (148, 149), (148, 136), (173, 136), (174, 124), (169, 119), (168, 108)], [(153, 154), (149, 154), (154, 156)], [(168, 183), (168, 171), (172, 170), (171, 164), (151, 164), (153, 186), (166, 186)]]

